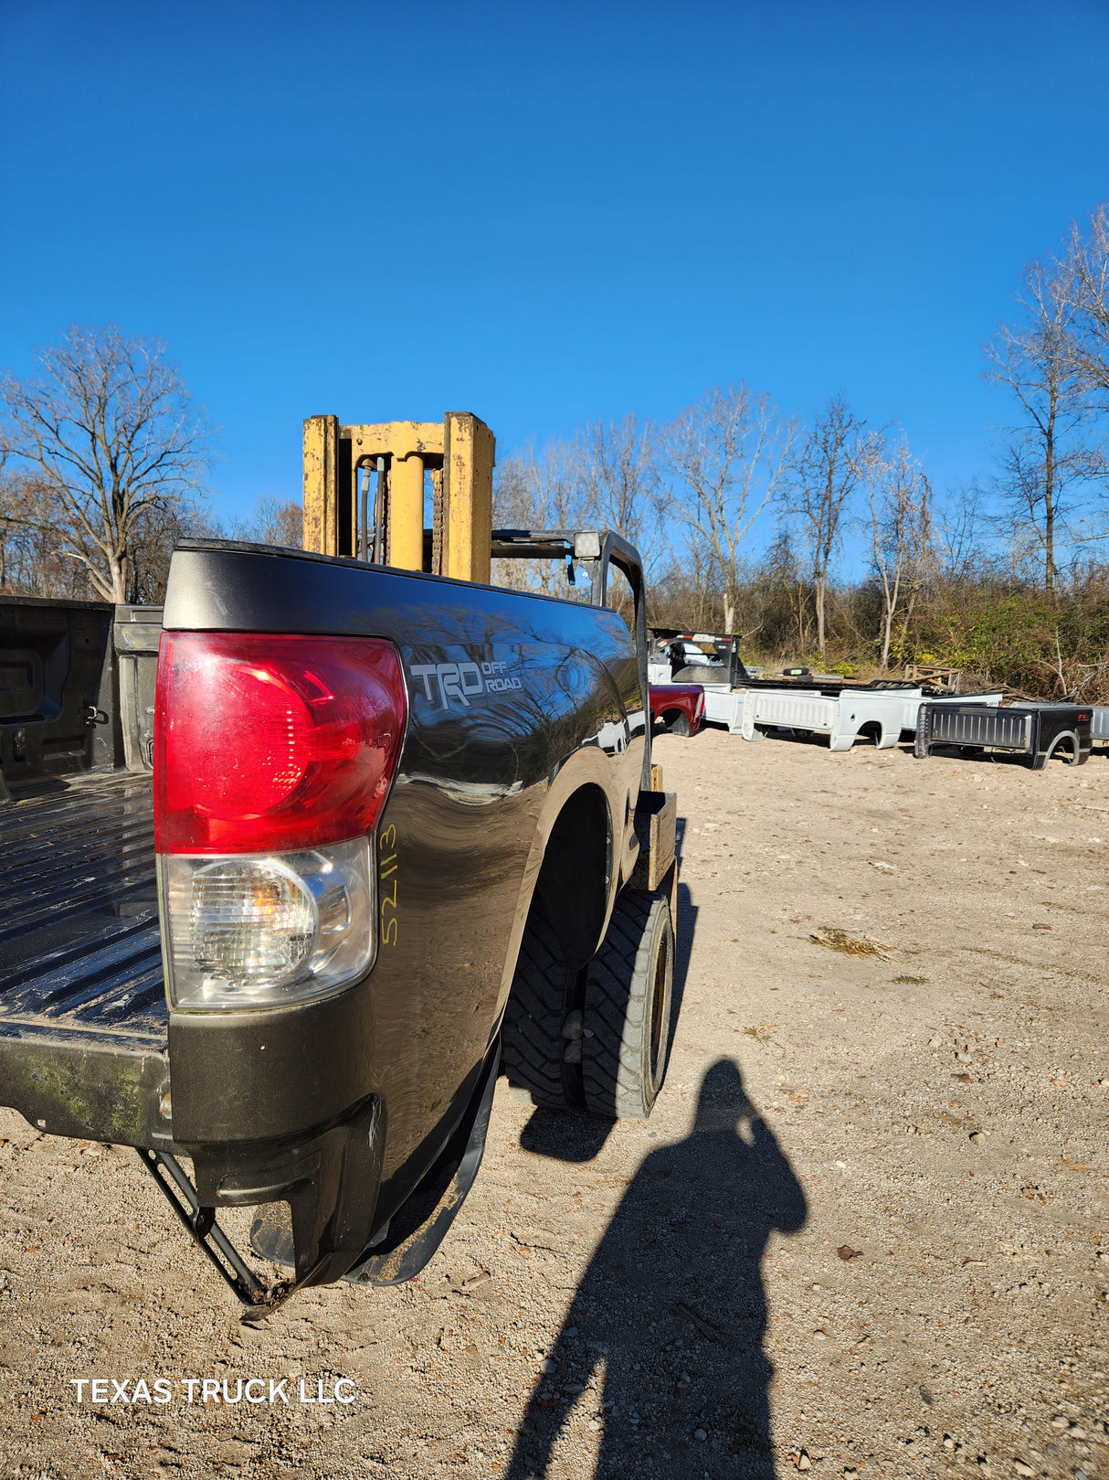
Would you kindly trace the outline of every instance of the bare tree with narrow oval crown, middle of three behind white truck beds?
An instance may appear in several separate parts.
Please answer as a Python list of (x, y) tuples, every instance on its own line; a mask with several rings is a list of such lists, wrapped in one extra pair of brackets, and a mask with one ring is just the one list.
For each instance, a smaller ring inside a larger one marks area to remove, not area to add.
[(827, 648), (828, 571), (862, 472), (865, 426), (843, 395), (828, 397), (801, 443), (788, 490), (790, 509), (800, 518), (809, 546), (821, 657)]

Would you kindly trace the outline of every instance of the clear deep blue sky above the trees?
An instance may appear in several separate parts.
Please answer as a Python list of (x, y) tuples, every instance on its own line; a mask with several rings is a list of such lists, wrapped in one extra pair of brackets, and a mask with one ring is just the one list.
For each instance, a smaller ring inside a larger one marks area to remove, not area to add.
[(506, 454), (739, 379), (957, 485), (1022, 263), (1109, 195), (1108, 73), (1106, 0), (0, 0), (0, 366), (164, 336), (223, 514), (299, 497), (311, 413)]

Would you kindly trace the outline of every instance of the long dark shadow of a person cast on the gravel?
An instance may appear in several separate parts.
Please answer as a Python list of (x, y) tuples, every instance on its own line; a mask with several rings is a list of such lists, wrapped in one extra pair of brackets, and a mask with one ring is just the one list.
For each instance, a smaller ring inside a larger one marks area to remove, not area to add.
[(578, 1425), (589, 1449), (600, 1430), (594, 1480), (772, 1480), (760, 1262), (773, 1230), (804, 1220), (800, 1183), (739, 1070), (717, 1061), (692, 1132), (646, 1157), (597, 1245), (507, 1480), (544, 1480), (556, 1447), (580, 1459)]

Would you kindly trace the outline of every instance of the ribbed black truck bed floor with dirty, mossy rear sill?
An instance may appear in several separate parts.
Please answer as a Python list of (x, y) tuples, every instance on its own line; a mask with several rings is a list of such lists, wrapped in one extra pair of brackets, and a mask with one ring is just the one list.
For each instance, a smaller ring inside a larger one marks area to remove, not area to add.
[(149, 774), (0, 807), (0, 1073), (15, 1109), (53, 1134), (166, 1147), (167, 1021)]

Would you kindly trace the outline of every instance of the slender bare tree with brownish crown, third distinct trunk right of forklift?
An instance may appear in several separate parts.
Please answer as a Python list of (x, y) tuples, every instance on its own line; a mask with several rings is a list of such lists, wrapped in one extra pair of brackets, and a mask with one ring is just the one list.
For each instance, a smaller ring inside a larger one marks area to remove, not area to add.
[(908, 626), (932, 554), (932, 490), (903, 438), (893, 447), (871, 438), (862, 477), (871, 558), (881, 588), (881, 666), (889, 672), (893, 623), (901, 613), (902, 630)]

